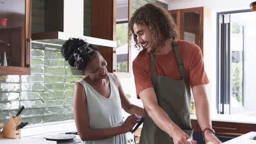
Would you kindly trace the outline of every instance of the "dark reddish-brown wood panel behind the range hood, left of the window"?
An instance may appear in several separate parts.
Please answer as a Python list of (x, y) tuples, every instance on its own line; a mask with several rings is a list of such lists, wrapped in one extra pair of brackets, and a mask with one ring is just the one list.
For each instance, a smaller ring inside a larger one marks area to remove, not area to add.
[[(91, 1), (91, 37), (115, 40), (115, 1)], [(113, 48), (99, 49), (108, 63), (108, 72), (113, 72)]]

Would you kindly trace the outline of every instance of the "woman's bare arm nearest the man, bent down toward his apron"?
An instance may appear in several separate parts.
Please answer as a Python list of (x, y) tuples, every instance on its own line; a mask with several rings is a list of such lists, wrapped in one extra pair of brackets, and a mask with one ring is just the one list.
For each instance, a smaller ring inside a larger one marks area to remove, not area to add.
[(117, 80), (117, 84), (118, 84), (118, 91), (119, 91), (119, 95), (120, 95), (120, 99), (121, 99), (121, 105), (122, 108), (130, 114), (136, 113), (137, 115), (140, 116), (144, 116), (144, 109), (142, 107), (139, 107), (137, 105), (133, 105), (131, 104), (131, 102), (126, 98), (123, 88), (121, 86), (121, 82), (118, 79), (117, 75), (115, 75), (115, 80)]

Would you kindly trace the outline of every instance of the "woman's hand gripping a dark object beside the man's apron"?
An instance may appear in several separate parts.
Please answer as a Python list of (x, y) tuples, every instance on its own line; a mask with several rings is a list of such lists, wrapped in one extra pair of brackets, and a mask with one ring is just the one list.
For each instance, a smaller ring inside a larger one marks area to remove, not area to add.
[(136, 114), (132, 114), (129, 117), (127, 117), (125, 122), (121, 125), (123, 133), (131, 131), (135, 124), (141, 121), (141, 118), (141, 116), (137, 116)]

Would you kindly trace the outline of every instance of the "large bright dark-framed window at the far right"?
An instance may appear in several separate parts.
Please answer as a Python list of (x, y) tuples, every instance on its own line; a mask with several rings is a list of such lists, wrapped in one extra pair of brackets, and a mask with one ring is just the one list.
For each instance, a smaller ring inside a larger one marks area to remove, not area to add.
[(217, 13), (217, 109), (256, 116), (256, 12)]

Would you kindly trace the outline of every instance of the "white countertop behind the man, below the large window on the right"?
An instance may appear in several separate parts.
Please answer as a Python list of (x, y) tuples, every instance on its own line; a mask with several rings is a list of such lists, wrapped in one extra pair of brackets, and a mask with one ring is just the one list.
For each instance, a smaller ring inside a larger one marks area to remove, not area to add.
[[(190, 115), (190, 118), (196, 119), (196, 116)], [(245, 115), (214, 114), (214, 115), (211, 115), (211, 121), (256, 124), (256, 117), (255, 116), (245, 116)]]

